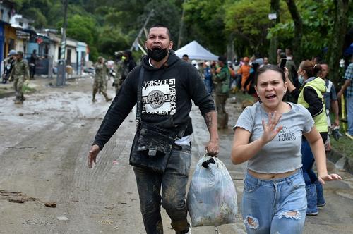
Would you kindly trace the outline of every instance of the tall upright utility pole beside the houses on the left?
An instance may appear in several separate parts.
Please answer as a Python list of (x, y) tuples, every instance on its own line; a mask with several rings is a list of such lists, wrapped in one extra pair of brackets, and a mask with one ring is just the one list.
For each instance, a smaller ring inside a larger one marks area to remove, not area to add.
[(66, 81), (66, 27), (67, 27), (67, 7), (68, 0), (64, 0), (64, 23), (61, 37), (60, 60), (58, 61), (58, 73), (56, 77), (56, 86), (65, 85)]

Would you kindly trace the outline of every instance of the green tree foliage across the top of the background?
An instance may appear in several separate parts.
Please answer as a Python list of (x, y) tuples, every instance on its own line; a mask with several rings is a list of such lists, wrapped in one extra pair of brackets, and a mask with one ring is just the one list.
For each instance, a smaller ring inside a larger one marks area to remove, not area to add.
[[(18, 13), (34, 20), (32, 25), (37, 29), (62, 27), (64, 0), (13, 2)], [(227, 44), (233, 43), (240, 56), (255, 51), (265, 56), (273, 37), (277, 37), (282, 49), (293, 44), (294, 23), (285, 1), (280, 1), (280, 23), (275, 27), (268, 20), (270, 0), (187, 0), (183, 3), (184, 0), (68, 0), (67, 36), (87, 42), (93, 58), (94, 54), (113, 56), (114, 51), (131, 47), (153, 8), (155, 13), (147, 27), (155, 23), (169, 26), (177, 49), (184, 7), (181, 46), (196, 39), (213, 53), (225, 54)], [(330, 43), (333, 32), (335, 0), (295, 3), (304, 24), (301, 54), (304, 58), (323, 56), (323, 48)], [(348, 12), (352, 11), (353, 1), (350, 1)], [(353, 27), (353, 14), (348, 16), (350, 27)]]

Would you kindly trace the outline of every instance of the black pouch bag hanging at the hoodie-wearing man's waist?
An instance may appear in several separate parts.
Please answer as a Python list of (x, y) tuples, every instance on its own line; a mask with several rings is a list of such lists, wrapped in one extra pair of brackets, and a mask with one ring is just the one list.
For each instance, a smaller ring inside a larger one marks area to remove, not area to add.
[(174, 132), (140, 122), (133, 138), (129, 164), (163, 173), (175, 140)]

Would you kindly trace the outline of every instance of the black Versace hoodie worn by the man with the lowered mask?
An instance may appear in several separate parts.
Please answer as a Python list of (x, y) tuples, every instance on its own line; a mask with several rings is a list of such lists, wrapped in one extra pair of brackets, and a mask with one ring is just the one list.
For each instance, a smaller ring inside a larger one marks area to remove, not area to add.
[[(182, 61), (172, 50), (167, 62), (161, 68), (150, 66), (149, 59), (145, 56), (141, 65), (145, 68), (142, 85), (142, 121), (169, 129), (179, 128), (189, 121), (191, 100), (199, 107), (203, 116), (205, 113), (215, 111), (213, 99), (195, 67)], [(137, 66), (128, 74), (109, 107), (93, 143), (100, 149), (114, 135), (135, 106), (139, 73), (140, 66)], [(189, 121), (184, 136), (192, 132)]]

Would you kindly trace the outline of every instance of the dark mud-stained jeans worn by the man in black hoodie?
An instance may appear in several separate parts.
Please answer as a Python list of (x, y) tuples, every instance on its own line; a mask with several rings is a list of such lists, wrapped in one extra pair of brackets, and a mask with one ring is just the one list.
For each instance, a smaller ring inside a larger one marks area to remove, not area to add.
[[(133, 167), (136, 176), (140, 209), (147, 234), (163, 233), (160, 205), (167, 211), (176, 233), (188, 229), (185, 202), (186, 185), (191, 165), (191, 147), (173, 149), (163, 174)], [(162, 185), (162, 196), (160, 189)]]

